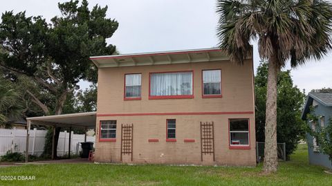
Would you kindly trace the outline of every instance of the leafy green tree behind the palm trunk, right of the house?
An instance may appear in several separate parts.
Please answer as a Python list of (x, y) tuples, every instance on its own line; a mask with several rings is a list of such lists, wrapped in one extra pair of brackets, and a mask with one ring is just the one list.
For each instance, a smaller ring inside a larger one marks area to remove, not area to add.
[[(268, 63), (261, 62), (255, 75), (256, 140), (265, 140), (266, 86)], [(296, 149), (299, 140), (305, 139), (306, 124), (301, 120), (305, 95), (293, 85), (291, 71), (280, 71), (277, 79), (277, 142), (286, 143), (286, 158)], [(278, 148), (278, 152), (283, 151)]]

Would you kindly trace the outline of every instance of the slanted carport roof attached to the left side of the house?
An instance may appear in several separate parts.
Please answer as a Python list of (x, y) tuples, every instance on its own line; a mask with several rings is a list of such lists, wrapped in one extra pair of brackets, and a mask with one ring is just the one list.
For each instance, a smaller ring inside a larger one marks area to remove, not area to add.
[(26, 120), (31, 124), (94, 129), (96, 114), (97, 112), (70, 113), (26, 118)]

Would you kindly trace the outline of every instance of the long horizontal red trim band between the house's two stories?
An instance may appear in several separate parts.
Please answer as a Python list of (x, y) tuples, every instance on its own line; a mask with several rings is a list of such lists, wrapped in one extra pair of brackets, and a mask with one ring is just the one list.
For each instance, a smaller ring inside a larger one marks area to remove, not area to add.
[(226, 115), (226, 114), (253, 114), (253, 111), (241, 112), (191, 112), (191, 113), (98, 113), (98, 117), (103, 116), (137, 116), (137, 115)]

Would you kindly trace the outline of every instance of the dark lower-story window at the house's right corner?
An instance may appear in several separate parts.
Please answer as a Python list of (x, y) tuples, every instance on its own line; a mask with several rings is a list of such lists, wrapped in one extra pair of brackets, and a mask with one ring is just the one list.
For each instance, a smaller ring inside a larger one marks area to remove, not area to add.
[(230, 147), (249, 147), (249, 120), (230, 119)]

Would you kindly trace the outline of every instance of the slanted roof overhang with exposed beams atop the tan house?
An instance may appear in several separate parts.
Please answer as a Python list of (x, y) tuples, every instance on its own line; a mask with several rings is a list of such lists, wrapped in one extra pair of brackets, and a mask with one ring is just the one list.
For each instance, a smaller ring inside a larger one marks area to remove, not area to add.
[[(247, 57), (252, 58), (251, 53)], [(90, 57), (98, 68), (120, 66), (144, 66), (158, 64), (182, 64), (194, 62), (216, 62), (229, 60), (227, 53), (220, 48), (194, 50), (172, 50), (154, 53), (133, 53), (124, 55), (104, 55)]]

